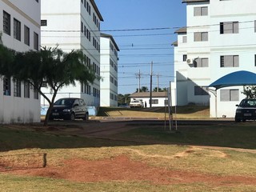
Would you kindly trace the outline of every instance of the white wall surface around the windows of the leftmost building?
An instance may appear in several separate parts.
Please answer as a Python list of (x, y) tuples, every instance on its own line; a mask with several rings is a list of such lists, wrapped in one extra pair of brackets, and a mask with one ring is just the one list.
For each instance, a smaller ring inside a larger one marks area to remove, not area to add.
[[(40, 0), (30, 0), (24, 3), (18, 0), (0, 1), (0, 31), (2, 31), (2, 11), (10, 14), (10, 35), (2, 33), (3, 45), (10, 49), (26, 51), (34, 49), (34, 32), (39, 36), (40, 45)], [(14, 39), (13, 20), (21, 22), (21, 41)], [(30, 28), (30, 46), (24, 44), (24, 25)], [(11, 95), (3, 95), (2, 78), (0, 79), (0, 123), (40, 122), (40, 100), (34, 98), (34, 91), (30, 90), (30, 98), (24, 98), (22, 83), (21, 97), (14, 97), (14, 83), (11, 81)]]

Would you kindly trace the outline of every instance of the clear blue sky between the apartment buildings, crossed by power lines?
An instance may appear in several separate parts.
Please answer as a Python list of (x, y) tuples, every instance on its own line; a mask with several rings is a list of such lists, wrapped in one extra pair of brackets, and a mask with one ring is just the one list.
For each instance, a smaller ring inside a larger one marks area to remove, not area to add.
[(186, 26), (186, 4), (182, 0), (95, 2), (104, 18), (102, 32), (113, 35), (120, 49), (118, 94), (135, 92), (139, 70), (141, 86), (150, 88), (150, 62), (153, 62), (153, 88), (157, 86), (157, 75), (159, 87), (168, 87), (174, 80), (171, 43), (177, 40), (174, 34), (177, 27)]

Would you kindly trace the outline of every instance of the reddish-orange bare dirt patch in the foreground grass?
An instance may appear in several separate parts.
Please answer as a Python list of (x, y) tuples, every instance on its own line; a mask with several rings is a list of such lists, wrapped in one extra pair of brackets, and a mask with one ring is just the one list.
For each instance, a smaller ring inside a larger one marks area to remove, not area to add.
[[(1, 169), (0, 169), (1, 170)], [(10, 170), (9, 174), (62, 178), (73, 182), (152, 182), (154, 184), (180, 184), (204, 182), (210, 185), (256, 185), (256, 178), (244, 176), (216, 176), (182, 170), (166, 170), (118, 156), (98, 161), (74, 158), (60, 167)]]

